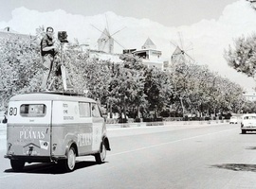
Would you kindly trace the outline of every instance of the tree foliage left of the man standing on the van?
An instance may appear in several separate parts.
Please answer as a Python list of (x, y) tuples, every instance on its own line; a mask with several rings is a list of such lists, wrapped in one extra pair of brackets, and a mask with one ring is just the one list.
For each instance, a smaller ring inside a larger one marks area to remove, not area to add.
[(7, 106), (9, 97), (26, 91), (34, 91), (40, 82), (39, 48), (35, 39), (17, 36), (1, 40), (0, 93)]

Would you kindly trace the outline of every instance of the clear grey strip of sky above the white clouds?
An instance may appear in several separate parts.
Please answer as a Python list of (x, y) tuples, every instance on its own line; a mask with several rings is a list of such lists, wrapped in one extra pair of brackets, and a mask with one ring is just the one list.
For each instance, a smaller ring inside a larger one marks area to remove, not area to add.
[(41, 12), (64, 9), (70, 14), (93, 16), (113, 11), (124, 17), (148, 18), (164, 26), (192, 25), (202, 19), (218, 19), (236, 0), (0, 0), (0, 19), (9, 21), (11, 11), (25, 7)]

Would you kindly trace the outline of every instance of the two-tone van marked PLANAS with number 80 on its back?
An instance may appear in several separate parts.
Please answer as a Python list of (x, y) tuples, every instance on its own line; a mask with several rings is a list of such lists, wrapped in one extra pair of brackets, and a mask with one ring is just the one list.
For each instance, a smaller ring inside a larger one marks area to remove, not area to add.
[(110, 150), (97, 102), (79, 94), (18, 94), (9, 99), (7, 155), (13, 170), (55, 162), (73, 171), (76, 157), (104, 163)]

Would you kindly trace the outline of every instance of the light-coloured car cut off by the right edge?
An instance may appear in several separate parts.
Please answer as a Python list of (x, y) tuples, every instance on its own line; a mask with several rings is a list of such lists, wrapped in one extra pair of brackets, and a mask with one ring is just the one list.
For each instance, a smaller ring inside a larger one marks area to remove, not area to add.
[(242, 134), (246, 134), (247, 131), (256, 131), (256, 113), (248, 113), (242, 116), (241, 130)]

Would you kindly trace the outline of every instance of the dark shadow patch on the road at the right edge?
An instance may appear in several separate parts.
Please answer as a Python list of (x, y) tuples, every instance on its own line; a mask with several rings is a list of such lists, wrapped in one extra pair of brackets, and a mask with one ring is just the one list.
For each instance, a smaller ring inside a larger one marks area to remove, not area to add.
[(211, 167), (228, 169), (228, 170), (232, 170), (232, 171), (256, 172), (256, 164), (223, 163), (223, 164), (213, 164), (213, 165), (211, 165)]

